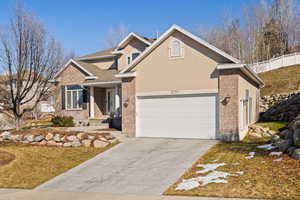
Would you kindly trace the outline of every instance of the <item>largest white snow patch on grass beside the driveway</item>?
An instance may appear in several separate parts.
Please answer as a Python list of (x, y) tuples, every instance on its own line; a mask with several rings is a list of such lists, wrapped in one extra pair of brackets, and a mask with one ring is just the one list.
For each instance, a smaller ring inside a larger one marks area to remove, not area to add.
[(243, 171), (238, 171), (234, 174), (230, 174), (228, 172), (217, 171), (218, 167), (224, 166), (226, 163), (215, 163), (215, 164), (201, 164), (197, 165), (197, 167), (204, 168), (201, 171), (197, 171), (197, 174), (204, 174), (209, 172), (205, 176), (199, 176), (190, 179), (183, 179), (181, 183), (179, 183), (175, 190), (191, 190), (197, 188), (199, 186), (205, 186), (209, 183), (228, 183), (226, 178), (228, 176), (240, 176), (243, 175)]

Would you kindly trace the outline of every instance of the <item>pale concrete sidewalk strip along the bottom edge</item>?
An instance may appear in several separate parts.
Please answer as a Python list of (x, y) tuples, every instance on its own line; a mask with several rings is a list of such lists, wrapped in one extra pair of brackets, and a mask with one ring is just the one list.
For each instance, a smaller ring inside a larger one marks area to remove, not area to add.
[[(57, 192), (19, 190), (17, 192), (0, 193), (0, 200), (242, 200), (236, 198), (210, 198), (210, 197), (180, 197), (180, 196), (144, 196), (120, 195), (98, 192)], [(244, 199), (245, 200), (245, 199)], [(254, 200), (254, 199), (251, 199)]]

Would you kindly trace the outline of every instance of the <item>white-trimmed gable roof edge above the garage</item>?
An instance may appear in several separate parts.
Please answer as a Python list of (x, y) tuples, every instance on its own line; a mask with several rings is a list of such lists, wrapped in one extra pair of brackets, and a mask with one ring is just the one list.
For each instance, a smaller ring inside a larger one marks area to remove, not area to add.
[(207, 47), (208, 49), (216, 52), (217, 54), (223, 56), (224, 58), (227, 58), (228, 60), (232, 61), (233, 63), (240, 63), (241, 61), (232, 57), (231, 55), (227, 54), (226, 52), (218, 49), (217, 47), (209, 44), (208, 42), (202, 40), (201, 38), (195, 36), (194, 34), (186, 31), (185, 29), (173, 25), (171, 26), (164, 34), (162, 34), (155, 42), (152, 43), (152, 45), (145, 50), (137, 59), (135, 59), (131, 65), (129, 65), (127, 68), (123, 69), (120, 73), (126, 73), (129, 72), (131, 69), (133, 69), (139, 62), (141, 62), (147, 55), (149, 55), (157, 46), (159, 46), (167, 37), (169, 37), (174, 31), (178, 31), (189, 38), (195, 40), (199, 44)]

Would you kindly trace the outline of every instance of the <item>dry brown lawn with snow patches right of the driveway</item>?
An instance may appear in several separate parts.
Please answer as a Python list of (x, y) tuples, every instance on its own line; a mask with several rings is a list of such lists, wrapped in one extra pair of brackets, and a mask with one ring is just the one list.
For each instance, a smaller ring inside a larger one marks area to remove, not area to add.
[[(300, 161), (283, 156), (280, 162), (274, 162), (277, 157), (270, 157), (270, 151), (257, 149), (261, 142), (249, 143), (223, 143), (220, 142), (202, 156), (195, 165), (189, 169), (166, 192), (166, 195), (214, 196), (232, 198), (261, 198), (261, 199), (300, 199)], [(253, 159), (247, 160), (245, 156), (256, 152)], [(227, 178), (228, 183), (210, 183), (189, 191), (176, 191), (176, 185), (182, 179), (199, 176), (196, 171), (198, 164), (227, 163), (218, 170), (235, 173), (244, 171), (238, 177)], [(240, 163), (240, 165), (233, 165)]]

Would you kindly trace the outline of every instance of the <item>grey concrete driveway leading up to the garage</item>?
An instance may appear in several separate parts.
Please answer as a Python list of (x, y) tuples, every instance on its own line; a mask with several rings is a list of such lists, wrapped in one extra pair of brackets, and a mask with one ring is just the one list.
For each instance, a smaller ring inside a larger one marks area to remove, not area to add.
[(217, 141), (133, 138), (36, 190), (162, 194)]

